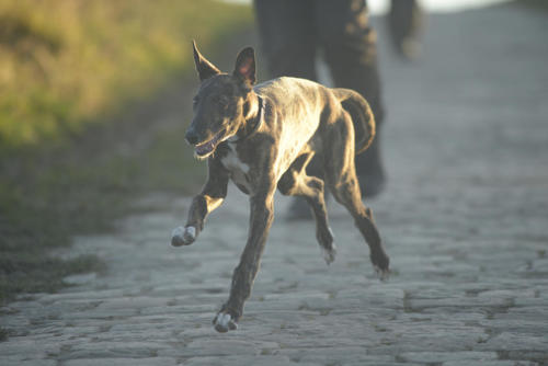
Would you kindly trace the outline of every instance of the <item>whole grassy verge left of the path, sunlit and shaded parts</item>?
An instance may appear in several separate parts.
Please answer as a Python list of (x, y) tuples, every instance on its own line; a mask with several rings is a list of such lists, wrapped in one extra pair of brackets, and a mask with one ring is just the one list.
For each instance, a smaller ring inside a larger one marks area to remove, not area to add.
[(104, 271), (49, 253), (111, 229), (146, 192), (196, 188), (184, 126), (150, 118), (191, 101), (165, 88), (189, 71), (197, 84), (192, 38), (215, 56), (251, 21), (213, 0), (0, 0), (0, 305)]

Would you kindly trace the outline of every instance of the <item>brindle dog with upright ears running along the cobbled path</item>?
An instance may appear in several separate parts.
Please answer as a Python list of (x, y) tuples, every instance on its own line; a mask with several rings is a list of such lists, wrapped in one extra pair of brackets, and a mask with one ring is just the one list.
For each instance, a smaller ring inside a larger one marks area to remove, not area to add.
[[(306, 198), (330, 264), (336, 251), (326, 210), (327, 184), (354, 218), (374, 267), (386, 277), (389, 259), (372, 210), (362, 203), (354, 165), (354, 156), (375, 136), (375, 119), (365, 99), (352, 90), (297, 78), (255, 84), (251, 47), (238, 54), (231, 75), (202, 56), (195, 42), (193, 53), (201, 85), (185, 139), (198, 159), (207, 159), (208, 176), (192, 201), (186, 225), (173, 230), (171, 244), (189, 245), (196, 240), (207, 215), (226, 197), (229, 180), (250, 196), (251, 204), (249, 238), (233, 272), (230, 296), (213, 320), (215, 329), (227, 332), (238, 327), (273, 221), (276, 188)], [(321, 162), (323, 180), (307, 175), (312, 158)]]

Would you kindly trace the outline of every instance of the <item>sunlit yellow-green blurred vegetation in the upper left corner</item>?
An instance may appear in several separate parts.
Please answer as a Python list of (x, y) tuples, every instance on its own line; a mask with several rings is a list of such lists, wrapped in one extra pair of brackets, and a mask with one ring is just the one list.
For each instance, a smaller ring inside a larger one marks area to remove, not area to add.
[(0, 146), (81, 131), (189, 67), (190, 39), (207, 47), (242, 19), (210, 0), (0, 0)]

